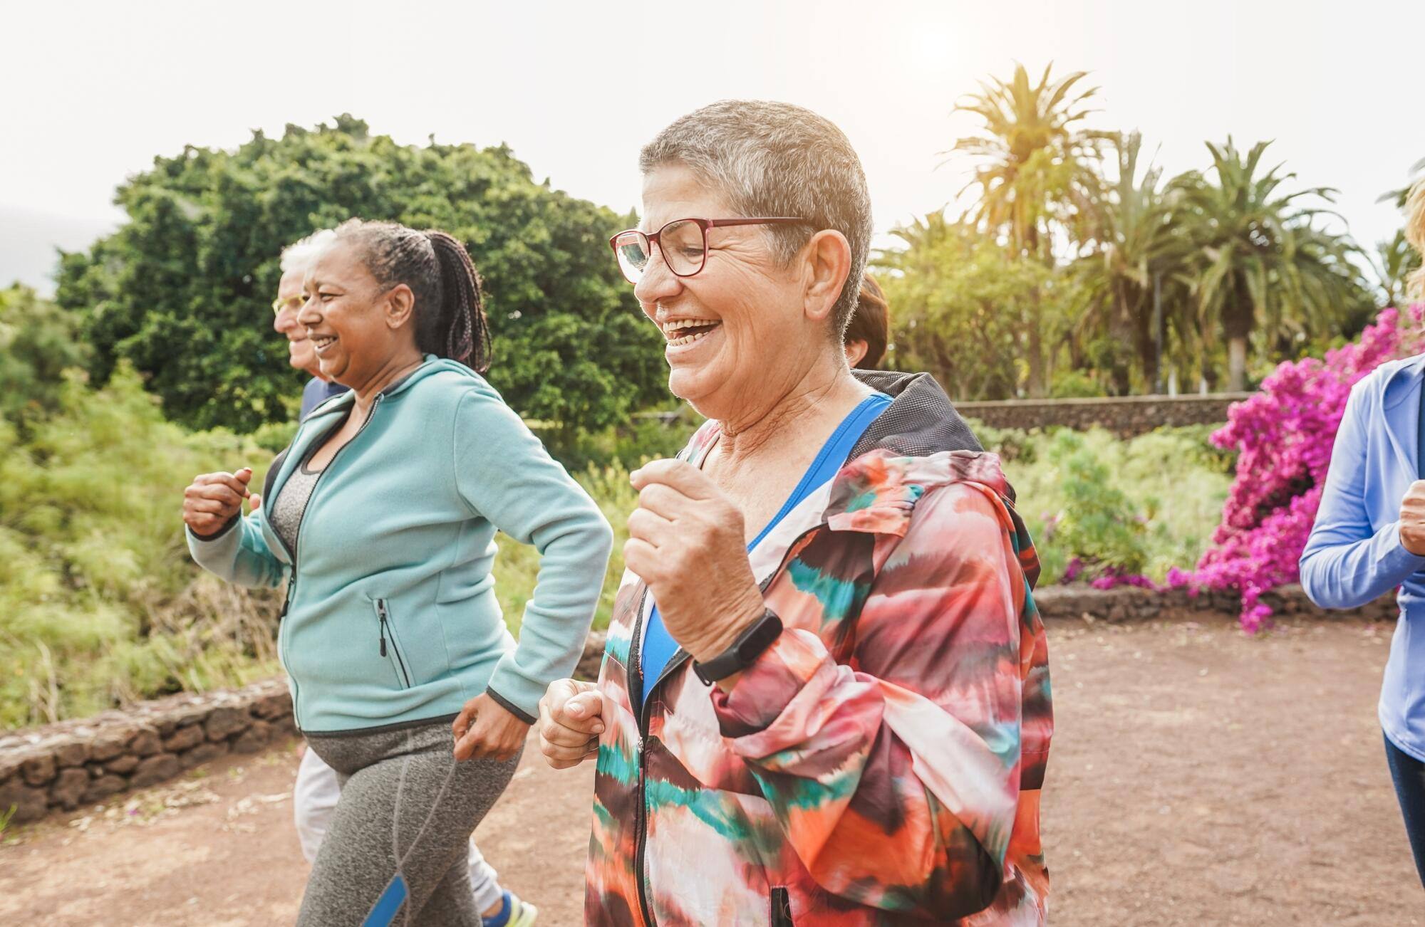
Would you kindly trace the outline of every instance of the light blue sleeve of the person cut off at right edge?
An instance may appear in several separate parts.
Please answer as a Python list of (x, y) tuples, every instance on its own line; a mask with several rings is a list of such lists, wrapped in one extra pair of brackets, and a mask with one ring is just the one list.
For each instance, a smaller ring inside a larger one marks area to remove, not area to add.
[(1362, 380), (1351, 390), (1331, 466), (1321, 491), (1321, 507), (1301, 551), (1301, 587), (1322, 608), (1357, 608), (1379, 598), (1425, 565), (1401, 544), (1401, 523), (1392, 518), (1371, 530), (1367, 507), (1367, 429), (1385, 427), (1369, 402)]

